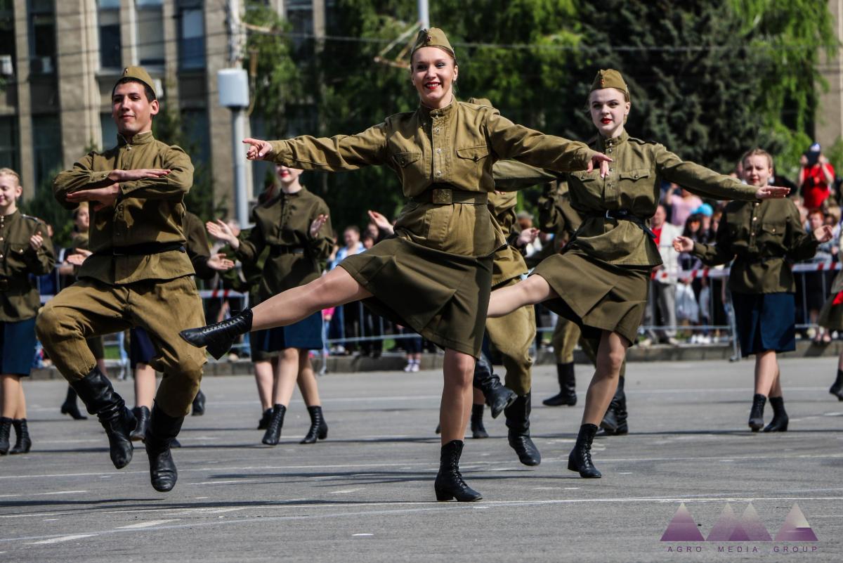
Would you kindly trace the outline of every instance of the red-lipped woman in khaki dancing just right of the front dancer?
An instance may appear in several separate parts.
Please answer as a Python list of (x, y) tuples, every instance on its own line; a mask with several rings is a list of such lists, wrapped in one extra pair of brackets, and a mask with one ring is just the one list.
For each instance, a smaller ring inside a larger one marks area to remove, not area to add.
[(588, 386), (577, 443), (568, 469), (600, 477), (591, 442), (618, 385), (626, 348), (636, 339), (650, 271), (662, 263), (647, 228), (656, 212), (663, 180), (707, 197), (752, 201), (784, 197), (787, 188), (741, 184), (698, 164), (685, 162), (662, 145), (640, 141), (624, 130), (631, 108), (629, 88), (615, 70), (597, 73), (588, 110), (598, 136), (589, 146), (613, 159), (609, 174), (570, 174), (572, 206), (583, 217), (564, 253), (549, 256), (534, 275), (493, 292), (489, 316), (526, 303), (545, 305), (579, 324), (585, 338), (599, 337), (597, 369)]

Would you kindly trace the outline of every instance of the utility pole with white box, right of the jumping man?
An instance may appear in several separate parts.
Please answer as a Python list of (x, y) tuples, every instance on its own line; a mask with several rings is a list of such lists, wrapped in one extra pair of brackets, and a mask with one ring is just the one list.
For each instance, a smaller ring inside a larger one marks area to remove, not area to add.
[(246, 196), (245, 112), (249, 107), (249, 76), (242, 66), (244, 32), (239, 0), (228, 0), (228, 65), (217, 72), (219, 104), (231, 110), (231, 146), (234, 169), (234, 209), (240, 228), (249, 224)]

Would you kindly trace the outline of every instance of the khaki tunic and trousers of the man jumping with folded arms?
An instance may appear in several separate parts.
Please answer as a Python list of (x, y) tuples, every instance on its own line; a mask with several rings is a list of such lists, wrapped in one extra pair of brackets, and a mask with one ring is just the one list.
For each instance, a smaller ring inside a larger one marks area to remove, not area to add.
[(114, 206), (91, 214), (89, 256), (79, 280), (59, 292), (38, 317), (39, 338), (62, 375), (83, 378), (96, 362), (90, 336), (132, 326), (147, 330), (157, 356), (150, 365), (164, 378), (156, 404), (169, 416), (185, 416), (201, 380), (205, 351), (179, 331), (203, 322), (201, 299), (185, 252), (184, 196), (193, 183), (190, 157), (158, 142), (151, 132), (92, 152), (56, 176), (53, 192), (68, 209), (68, 193), (111, 185), (114, 169), (169, 169), (161, 178), (125, 181)]

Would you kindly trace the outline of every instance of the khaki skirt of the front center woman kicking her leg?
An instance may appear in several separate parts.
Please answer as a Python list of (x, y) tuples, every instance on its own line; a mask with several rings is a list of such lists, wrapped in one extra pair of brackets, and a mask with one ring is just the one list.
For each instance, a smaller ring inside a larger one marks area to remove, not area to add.
[(491, 255), (429, 249), (392, 237), (342, 260), (373, 297), (368, 308), (410, 327), (437, 346), (480, 355), (491, 292)]

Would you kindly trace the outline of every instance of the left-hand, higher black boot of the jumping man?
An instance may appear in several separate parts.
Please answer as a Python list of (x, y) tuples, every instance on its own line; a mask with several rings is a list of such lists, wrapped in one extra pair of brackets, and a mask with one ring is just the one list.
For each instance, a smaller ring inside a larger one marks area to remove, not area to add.
[(123, 469), (132, 461), (130, 435), (137, 426), (132, 411), (126, 407), (123, 398), (115, 393), (111, 382), (99, 371), (99, 367), (94, 367), (91, 373), (70, 385), (88, 408), (88, 414), (96, 415), (99, 424), (105, 428), (111, 463), (117, 469)]

